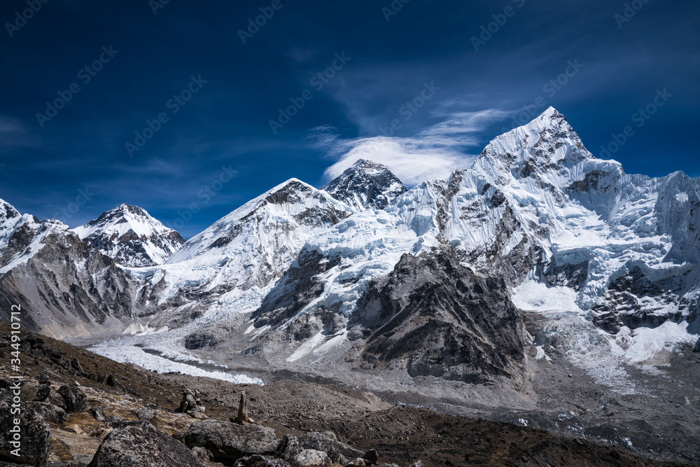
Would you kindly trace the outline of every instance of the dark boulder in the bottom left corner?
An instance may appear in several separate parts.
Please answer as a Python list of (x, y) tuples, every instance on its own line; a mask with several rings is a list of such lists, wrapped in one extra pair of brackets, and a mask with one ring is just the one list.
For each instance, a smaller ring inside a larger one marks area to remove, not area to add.
[[(15, 403), (19, 405), (20, 414), (11, 412)], [(19, 424), (15, 425), (15, 421)], [(20, 430), (19, 440), (15, 440), (12, 432), (15, 427)], [(41, 415), (19, 398), (14, 400), (11, 390), (0, 390), (0, 459), (40, 466), (48, 459), (50, 446), (51, 428)], [(19, 457), (13, 454), (18, 448)]]

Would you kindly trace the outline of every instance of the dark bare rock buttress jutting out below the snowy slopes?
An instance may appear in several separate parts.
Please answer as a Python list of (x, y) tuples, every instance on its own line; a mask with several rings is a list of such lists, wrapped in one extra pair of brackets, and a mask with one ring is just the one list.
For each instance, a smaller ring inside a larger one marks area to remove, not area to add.
[(373, 368), (472, 384), (524, 370), (526, 331), (505, 281), (476, 277), (449, 252), (402, 256), (368, 286), (350, 328), (368, 336), (362, 357)]

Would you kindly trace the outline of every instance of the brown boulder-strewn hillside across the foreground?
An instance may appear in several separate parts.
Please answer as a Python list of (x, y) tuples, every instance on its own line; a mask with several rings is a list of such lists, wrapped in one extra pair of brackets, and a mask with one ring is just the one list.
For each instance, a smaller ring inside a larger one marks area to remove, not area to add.
[[(0, 330), (8, 364), (9, 328)], [(30, 333), (21, 352), (21, 457), (10, 453), (15, 373), (0, 365), (0, 466), (683, 465), (526, 426), (392, 406), (344, 386), (159, 375)]]

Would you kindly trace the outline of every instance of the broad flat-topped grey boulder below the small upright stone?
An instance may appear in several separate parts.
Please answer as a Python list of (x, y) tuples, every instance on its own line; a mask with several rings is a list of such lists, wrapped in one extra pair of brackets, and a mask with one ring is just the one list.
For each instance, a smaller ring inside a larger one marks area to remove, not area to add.
[(274, 454), (279, 439), (272, 428), (256, 424), (239, 425), (228, 421), (195, 421), (185, 433), (188, 447), (204, 447), (214, 460), (230, 463), (244, 456)]

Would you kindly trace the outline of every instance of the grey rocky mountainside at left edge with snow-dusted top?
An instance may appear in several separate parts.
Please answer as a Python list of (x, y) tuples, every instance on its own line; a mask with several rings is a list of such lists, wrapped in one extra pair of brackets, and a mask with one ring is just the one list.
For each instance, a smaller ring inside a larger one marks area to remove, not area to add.
[(18, 305), (23, 327), (65, 339), (118, 333), (135, 316), (124, 271), (66, 225), (15, 215), (0, 242), (3, 321)]

